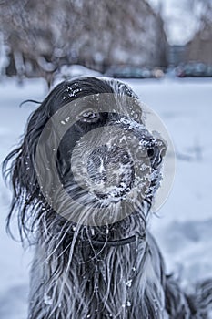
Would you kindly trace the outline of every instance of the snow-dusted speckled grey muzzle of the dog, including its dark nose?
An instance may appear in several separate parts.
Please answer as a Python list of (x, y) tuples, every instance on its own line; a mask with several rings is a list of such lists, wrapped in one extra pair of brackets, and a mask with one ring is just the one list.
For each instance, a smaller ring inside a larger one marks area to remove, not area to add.
[[(162, 140), (134, 121), (119, 120), (102, 130), (100, 145), (86, 157), (82, 150), (87, 190), (96, 200), (117, 202), (132, 190), (143, 192), (156, 186), (156, 171), (165, 154)], [(104, 135), (105, 133), (105, 135)], [(105, 143), (104, 143), (105, 141)], [(98, 144), (98, 143), (97, 143)]]

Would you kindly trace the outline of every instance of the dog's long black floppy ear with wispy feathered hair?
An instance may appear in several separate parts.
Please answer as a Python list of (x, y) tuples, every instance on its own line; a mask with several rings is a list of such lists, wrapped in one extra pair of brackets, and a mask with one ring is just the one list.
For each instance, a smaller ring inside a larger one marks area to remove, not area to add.
[[(58, 85), (45, 98), (44, 102), (28, 119), (25, 135), (20, 146), (7, 155), (3, 162), (3, 175), (5, 180), (10, 180), (13, 187), (13, 199), (7, 218), (7, 231), (10, 231), (11, 217), (17, 211), (18, 227), (21, 240), (32, 231), (35, 221), (39, 216), (37, 206), (42, 205), (42, 194), (39, 189), (35, 172), (35, 153), (38, 139), (45, 127), (45, 123), (52, 115), (54, 104), (59, 101), (63, 91), (63, 83)], [(62, 99), (61, 99), (62, 100)], [(13, 235), (12, 235), (13, 236)]]

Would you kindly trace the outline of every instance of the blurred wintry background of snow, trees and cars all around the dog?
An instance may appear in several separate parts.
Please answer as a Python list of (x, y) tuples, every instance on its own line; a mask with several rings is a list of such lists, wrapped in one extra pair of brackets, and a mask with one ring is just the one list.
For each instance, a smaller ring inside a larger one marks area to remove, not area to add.
[[(212, 276), (212, 0), (0, 0), (0, 162), (36, 108), (20, 103), (83, 75), (121, 78), (162, 118), (176, 177), (149, 227), (182, 286)], [(25, 319), (33, 249), (5, 232), (10, 201), (0, 176), (0, 318)]]

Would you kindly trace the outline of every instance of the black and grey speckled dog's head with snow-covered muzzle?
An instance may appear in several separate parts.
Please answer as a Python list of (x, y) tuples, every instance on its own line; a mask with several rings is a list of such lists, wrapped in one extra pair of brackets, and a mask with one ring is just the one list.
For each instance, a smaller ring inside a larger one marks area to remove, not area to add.
[(69, 221), (104, 225), (148, 210), (165, 152), (125, 84), (96, 77), (63, 82), (29, 118), (20, 147), (5, 160), (15, 158), (12, 211), (21, 211), (22, 225), (33, 209), (40, 217), (55, 211)]

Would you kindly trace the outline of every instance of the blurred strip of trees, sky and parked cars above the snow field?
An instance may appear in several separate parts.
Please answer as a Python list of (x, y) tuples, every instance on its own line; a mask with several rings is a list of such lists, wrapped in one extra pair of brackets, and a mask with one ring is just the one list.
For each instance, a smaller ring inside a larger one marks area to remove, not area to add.
[[(212, 77), (211, 0), (1, 0), (0, 76)], [(66, 67), (66, 68), (65, 68)], [(71, 72), (72, 70), (69, 70)]]

